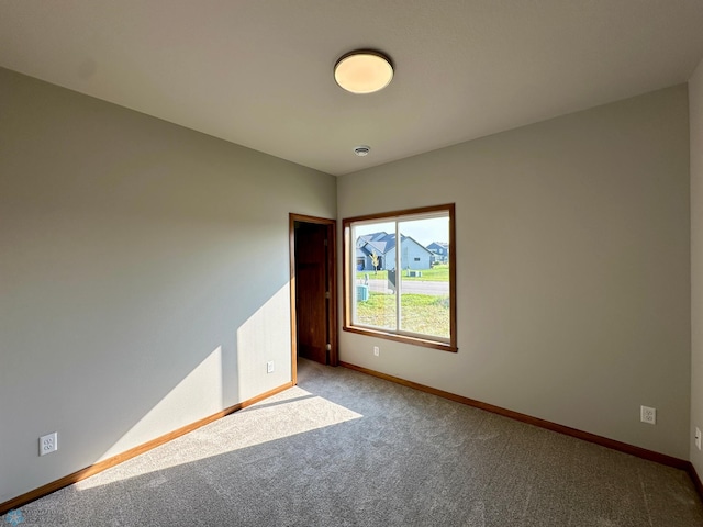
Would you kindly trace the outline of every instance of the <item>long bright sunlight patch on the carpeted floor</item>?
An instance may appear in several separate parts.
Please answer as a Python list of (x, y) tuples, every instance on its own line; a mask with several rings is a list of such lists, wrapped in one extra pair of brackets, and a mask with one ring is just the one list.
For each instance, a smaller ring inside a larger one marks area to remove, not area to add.
[(78, 482), (76, 487), (94, 489), (360, 417), (364, 416), (293, 386)]

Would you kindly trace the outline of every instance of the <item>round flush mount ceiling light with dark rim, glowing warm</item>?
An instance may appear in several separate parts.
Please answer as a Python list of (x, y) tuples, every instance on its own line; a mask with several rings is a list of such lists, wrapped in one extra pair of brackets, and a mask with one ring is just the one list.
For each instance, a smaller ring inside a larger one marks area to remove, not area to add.
[(393, 66), (386, 55), (359, 49), (343, 55), (334, 66), (334, 80), (352, 93), (373, 93), (393, 79)]

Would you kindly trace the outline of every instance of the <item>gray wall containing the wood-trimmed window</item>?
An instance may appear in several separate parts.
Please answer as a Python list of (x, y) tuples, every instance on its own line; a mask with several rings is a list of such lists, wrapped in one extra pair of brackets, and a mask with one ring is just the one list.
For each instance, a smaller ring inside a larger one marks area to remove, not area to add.
[(688, 126), (678, 86), (342, 177), (339, 218), (456, 203), (459, 351), (341, 359), (688, 458)]

